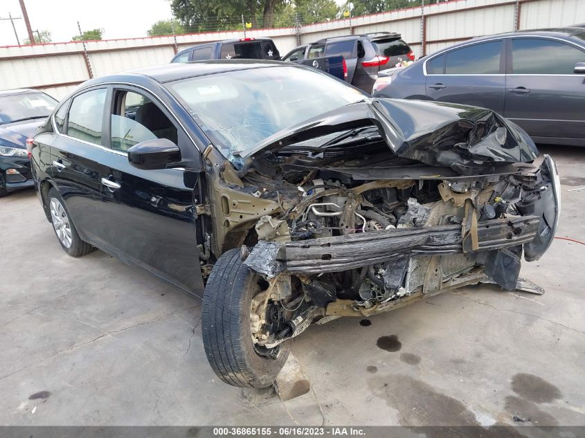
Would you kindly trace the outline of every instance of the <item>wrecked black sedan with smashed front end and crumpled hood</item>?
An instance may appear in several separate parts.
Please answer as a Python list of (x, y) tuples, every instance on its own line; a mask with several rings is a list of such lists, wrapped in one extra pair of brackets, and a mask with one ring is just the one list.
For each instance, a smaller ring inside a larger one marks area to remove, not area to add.
[(209, 363), (236, 386), (271, 385), (311, 322), (531, 286), (520, 260), (559, 218), (555, 163), (532, 165), (532, 140), (493, 111), (370, 98), (279, 62), (90, 80), (32, 156), (66, 253), (98, 248), (202, 297)]

